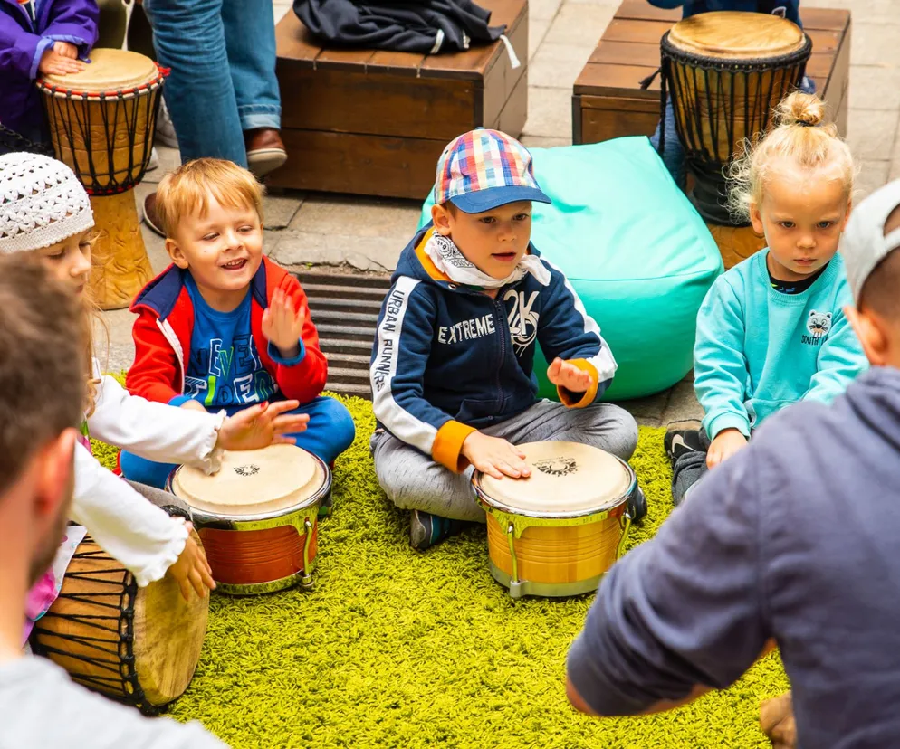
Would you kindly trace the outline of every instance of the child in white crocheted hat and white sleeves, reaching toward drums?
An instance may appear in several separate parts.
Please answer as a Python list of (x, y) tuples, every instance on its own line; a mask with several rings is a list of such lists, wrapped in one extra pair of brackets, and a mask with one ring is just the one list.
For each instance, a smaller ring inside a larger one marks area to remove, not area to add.
[[(92, 228), (91, 202), (68, 166), (34, 154), (0, 156), (0, 253), (36, 253), (57, 279), (84, 299), (91, 271)], [(87, 299), (83, 308), (90, 346)], [(284, 435), (302, 431), (309, 417), (284, 414), (298, 406), (296, 401), (256, 405), (229, 418), (224, 413), (150, 403), (129, 395), (112, 377), (101, 376), (92, 352), (88, 361), (89, 403), (81, 428), (84, 439), (75, 452), (72, 520), (124, 564), (139, 586), (168, 571), (186, 599), (192, 587), (205, 596), (215, 583), (202, 548), (190, 536), (190, 524), (156, 506), (177, 505), (178, 500), (158, 489), (129, 484), (104, 469), (91, 455), (88, 435), (148, 460), (188, 463), (212, 473), (218, 469), (222, 450), (292, 442)], [(73, 548), (65, 553), (71, 558), (72, 552)], [(53, 568), (64, 569), (67, 561), (61, 564), (58, 558)], [(35, 586), (30, 619), (49, 608), (61, 584), (62, 575), (57, 574)]]

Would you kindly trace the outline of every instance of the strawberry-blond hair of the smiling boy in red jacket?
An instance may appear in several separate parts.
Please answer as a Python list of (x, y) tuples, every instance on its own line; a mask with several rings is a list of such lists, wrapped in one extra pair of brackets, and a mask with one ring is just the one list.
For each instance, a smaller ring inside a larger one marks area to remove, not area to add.
[(210, 197), (230, 208), (253, 208), (263, 222), (263, 185), (234, 162), (221, 158), (197, 158), (163, 177), (157, 188), (157, 213), (166, 236), (185, 216), (209, 209)]

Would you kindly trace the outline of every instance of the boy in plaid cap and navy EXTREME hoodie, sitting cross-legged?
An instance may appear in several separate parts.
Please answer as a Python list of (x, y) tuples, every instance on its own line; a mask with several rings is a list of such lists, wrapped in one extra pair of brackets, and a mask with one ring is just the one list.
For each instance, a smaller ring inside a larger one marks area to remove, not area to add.
[[(616, 360), (566, 277), (531, 245), (531, 202), (550, 203), (531, 154), (496, 130), (453, 140), (437, 163), (432, 221), (400, 255), (370, 377), (378, 481), (412, 510), (410, 544), (426, 549), (484, 523), (479, 469), (526, 478), (515, 445), (582, 442), (628, 460), (630, 414), (598, 403)], [(535, 346), (561, 403), (537, 398)], [(646, 513), (638, 489), (633, 517)]]

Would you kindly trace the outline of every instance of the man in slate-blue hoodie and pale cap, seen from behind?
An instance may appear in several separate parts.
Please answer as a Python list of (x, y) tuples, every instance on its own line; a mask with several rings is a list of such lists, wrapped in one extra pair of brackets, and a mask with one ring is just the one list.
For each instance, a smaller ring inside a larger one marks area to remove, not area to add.
[(841, 252), (872, 369), (773, 416), (613, 566), (569, 652), (580, 710), (680, 705), (774, 639), (800, 745), (900, 746), (900, 181), (854, 210)]

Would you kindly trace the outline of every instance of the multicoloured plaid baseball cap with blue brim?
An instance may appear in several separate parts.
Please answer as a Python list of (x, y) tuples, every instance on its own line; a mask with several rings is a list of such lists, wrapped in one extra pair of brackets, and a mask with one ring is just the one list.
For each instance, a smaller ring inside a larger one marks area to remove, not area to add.
[(451, 140), (437, 161), (435, 203), (483, 213), (507, 203), (550, 203), (534, 179), (531, 154), (514, 137), (479, 128)]

